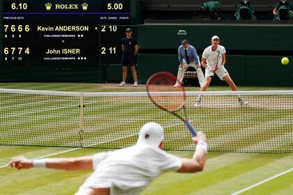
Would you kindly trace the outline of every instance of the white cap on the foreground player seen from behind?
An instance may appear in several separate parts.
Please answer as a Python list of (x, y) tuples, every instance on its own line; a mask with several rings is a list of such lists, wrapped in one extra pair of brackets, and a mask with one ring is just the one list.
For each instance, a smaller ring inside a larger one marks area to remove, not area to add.
[(164, 130), (158, 123), (146, 123), (140, 129), (137, 144), (158, 147), (164, 139)]

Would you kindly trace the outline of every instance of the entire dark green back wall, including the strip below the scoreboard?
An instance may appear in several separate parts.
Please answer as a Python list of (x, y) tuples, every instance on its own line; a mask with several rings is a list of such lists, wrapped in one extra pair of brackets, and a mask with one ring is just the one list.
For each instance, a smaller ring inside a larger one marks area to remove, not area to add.
[[(186, 35), (178, 34), (179, 30), (186, 31)], [(221, 44), (227, 49), (226, 68), (238, 86), (293, 86), (292, 32), (293, 25), (290, 24), (138, 25), (135, 37), (139, 40), (140, 47), (140, 84), (144, 84), (154, 72), (167, 71), (176, 75), (179, 65), (176, 50), (181, 40), (190, 40), (190, 44), (194, 45), (201, 55), (203, 49), (210, 45), (211, 36), (217, 34), (221, 38)], [(280, 63), (283, 56), (289, 57), (289, 65)], [(67, 71), (66, 74), (66, 70), (57, 72), (51, 69), (37, 74), (33, 65), (36, 64), (1, 70), (0, 81), (104, 83), (118, 82), (122, 77), (120, 61), (101, 64), (100, 70)], [(128, 79), (132, 79), (130, 71)], [(213, 84), (226, 85), (218, 78), (213, 79)]]

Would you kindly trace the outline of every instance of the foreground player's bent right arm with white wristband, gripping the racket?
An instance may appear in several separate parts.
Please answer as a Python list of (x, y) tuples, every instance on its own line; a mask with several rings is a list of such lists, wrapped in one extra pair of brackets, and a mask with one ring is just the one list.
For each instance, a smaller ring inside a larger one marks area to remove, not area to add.
[(197, 137), (193, 137), (193, 141), (197, 144), (195, 154), (192, 159), (181, 159), (182, 166), (177, 171), (179, 173), (195, 173), (204, 169), (207, 156), (206, 135), (202, 132), (197, 132)]

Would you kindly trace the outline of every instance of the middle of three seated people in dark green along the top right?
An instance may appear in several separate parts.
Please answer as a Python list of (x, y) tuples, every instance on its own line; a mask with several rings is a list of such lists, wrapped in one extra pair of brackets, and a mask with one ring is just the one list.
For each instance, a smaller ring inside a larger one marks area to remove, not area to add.
[(249, 0), (241, 0), (241, 3), (236, 8), (236, 20), (257, 20), (255, 11)]

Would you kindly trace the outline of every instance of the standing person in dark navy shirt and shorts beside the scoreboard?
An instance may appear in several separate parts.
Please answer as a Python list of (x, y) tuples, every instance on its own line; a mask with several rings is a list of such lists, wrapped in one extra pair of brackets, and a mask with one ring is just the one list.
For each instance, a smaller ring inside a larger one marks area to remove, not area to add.
[(126, 29), (126, 37), (122, 39), (122, 82), (119, 84), (119, 86), (125, 86), (126, 85), (126, 79), (127, 79), (127, 70), (128, 66), (130, 66), (131, 72), (133, 73), (133, 80), (134, 80), (134, 86), (137, 86), (137, 72), (136, 72), (136, 65), (137, 65), (137, 53), (138, 53), (138, 46), (137, 41), (135, 38), (132, 37), (133, 30), (130, 28)]

